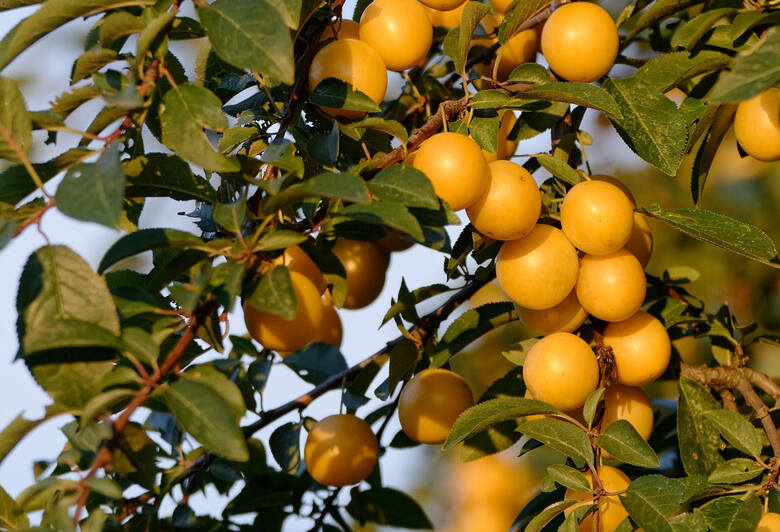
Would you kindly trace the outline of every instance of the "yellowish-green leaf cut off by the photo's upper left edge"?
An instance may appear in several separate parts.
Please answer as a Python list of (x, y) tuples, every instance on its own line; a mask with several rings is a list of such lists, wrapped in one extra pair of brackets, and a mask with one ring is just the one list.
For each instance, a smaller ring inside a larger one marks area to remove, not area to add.
[[(0, 56), (2, 53), (0, 51)], [(32, 121), (14, 80), (0, 77), (0, 101), (3, 102), (0, 107), (0, 159), (21, 162), (19, 154), (11, 148), (11, 142), (27, 157), (32, 147)]]

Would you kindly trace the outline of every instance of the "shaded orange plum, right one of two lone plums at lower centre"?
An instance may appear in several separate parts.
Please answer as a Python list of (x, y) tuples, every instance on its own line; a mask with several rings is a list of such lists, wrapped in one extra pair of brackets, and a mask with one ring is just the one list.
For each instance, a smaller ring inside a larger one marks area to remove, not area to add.
[(426, 369), (401, 390), (398, 419), (407, 436), (419, 443), (447, 439), (461, 412), (474, 404), (466, 381), (446, 369)]

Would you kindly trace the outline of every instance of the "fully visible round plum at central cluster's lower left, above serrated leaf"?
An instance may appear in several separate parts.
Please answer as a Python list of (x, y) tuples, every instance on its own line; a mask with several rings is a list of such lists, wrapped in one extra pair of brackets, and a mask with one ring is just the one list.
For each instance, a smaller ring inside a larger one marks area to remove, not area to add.
[(553, 333), (528, 351), (523, 380), (535, 399), (573, 410), (598, 386), (599, 364), (585, 340), (571, 333)]

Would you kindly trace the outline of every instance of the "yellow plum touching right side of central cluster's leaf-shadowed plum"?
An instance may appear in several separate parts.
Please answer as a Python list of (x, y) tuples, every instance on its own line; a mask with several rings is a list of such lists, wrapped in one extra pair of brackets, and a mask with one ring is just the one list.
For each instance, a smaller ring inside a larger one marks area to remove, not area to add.
[(580, 261), (577, 299), (588, 314), (600, 320), (631, 317), (642, 306), (645, 289), (642, 265), (625, 249), (609, 255), (585, 255)]

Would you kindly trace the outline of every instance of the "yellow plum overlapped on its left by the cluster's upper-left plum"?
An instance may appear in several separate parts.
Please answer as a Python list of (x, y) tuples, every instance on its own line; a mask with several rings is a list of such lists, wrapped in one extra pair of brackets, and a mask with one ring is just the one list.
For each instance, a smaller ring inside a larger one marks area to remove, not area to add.
[(488, 164), (488, 188), (466, 208), (474, 227), (495, 240), (514, 240), (528, 234), (542, 212), (542, 193), (533, 176), (511, 161)]

